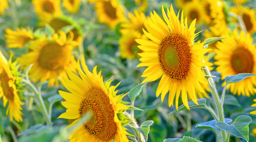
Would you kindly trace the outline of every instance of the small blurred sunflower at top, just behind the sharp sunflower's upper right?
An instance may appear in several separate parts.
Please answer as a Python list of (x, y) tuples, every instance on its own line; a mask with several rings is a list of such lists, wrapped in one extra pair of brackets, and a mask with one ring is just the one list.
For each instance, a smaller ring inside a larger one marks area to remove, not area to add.
[(196, 19), (198, 24), (201, 24), (204, 21), (204, 11), (203, 7), (199, 2), (191, 2), (184, 7), (184, 16), (188, 17), (188, 22), (191, 23)]

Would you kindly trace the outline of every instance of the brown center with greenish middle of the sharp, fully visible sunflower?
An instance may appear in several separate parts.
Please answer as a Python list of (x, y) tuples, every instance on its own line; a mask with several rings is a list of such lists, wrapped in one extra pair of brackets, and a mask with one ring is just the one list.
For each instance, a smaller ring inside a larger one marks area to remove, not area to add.
[(178, 34), (168, 35), (160, 43), (158, 59), (164, 73), (171, 79), (185, 79), (191, 64), (188, 41)]

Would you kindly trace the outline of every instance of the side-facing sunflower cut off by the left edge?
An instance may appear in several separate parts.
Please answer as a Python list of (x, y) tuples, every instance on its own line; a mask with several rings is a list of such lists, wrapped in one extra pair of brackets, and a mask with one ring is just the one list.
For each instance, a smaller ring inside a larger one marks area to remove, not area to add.
[(4, 107), (9, 102), (6, 114), (9, 114), (11, 121), (18, 122), (23, 121), (21, 105), (24, 104), (20, 101), (23, 87), (19, 75), (17, 63), (11, 63), (11, 59), (8, 62), (0, 50), (0, 99), (3, 98)]

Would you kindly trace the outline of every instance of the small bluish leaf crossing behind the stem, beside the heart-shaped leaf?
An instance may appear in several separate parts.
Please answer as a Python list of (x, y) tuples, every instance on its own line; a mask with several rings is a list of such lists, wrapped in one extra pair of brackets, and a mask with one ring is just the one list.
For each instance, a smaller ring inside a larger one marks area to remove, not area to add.
[[(229, 122), (231, 122), (231, 121), (232, 121), (232, 119), (230, 119), (230, 118), (225, 118), (225, 123), (229, 123)], [(208, 122), (203, 122), (203, 123), (201, 123), (201, 124), (197, 124), (195, 127), (196, 127), (196, 128), (205, 128), (205, 129), (215, 130), (215, 131), (220, 132), (220, 129), (218, 129), (218, 128), (216, 127), (216, 125), (215, 125), (216, 123), (217, 123), (216, 120), (211, 120), (211, 121), (208, 121)]]

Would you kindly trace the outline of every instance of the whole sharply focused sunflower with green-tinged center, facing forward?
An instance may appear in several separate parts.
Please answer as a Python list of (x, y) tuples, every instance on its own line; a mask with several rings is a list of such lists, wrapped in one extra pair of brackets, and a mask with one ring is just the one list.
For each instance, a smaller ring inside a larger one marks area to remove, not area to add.
[(189, 109), (188, 95), (193, 102), (197, 103), (195, 89), (203, 92), (200, 82), (206, 84), (204, 74), (201, 70), (205, 63), (202, 62), (203, 55), (209, 49), (203, 49), (204, 43), (193, 44), (195, 34), (195, 20), (188, 28), (188, 21), (183, 18), (179, 21), (179, 14), (175, 14), (173, 6), (167, 9), (167, 15), (162, 7), (164, 21), (157, 15), (151, 13), (148, 19), (145, 35), (151, 40), (136, 40), (141, 44), (139, 49), (143, 53), (138, 67), (148, 66), (142, 77), (144, 82), (154, 81), (161, 77), (157, 88), (157, 97), (161, 93), (163, 101), (166, 93), (169, 92), (168, 104), (173, 105), (176, 96), (176, 108), (180, 94), (183, 104)]

